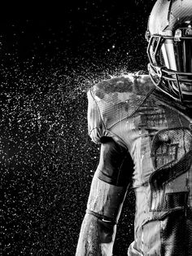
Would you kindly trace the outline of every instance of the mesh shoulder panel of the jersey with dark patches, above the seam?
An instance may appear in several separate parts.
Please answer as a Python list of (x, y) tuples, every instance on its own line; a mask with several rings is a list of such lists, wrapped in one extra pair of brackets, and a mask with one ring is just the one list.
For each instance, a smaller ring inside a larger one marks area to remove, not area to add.
[(98, 125), (94, 121), (94, 127), (99, 126), (101, 129), (103, 126), (103, 129), (107, 130), (119, 121), (132, 116), (154, 89), (155, 86), (148, 75), (129, 74), (98, 82), (88, 93), (88, 99), (90, 95), (93, 98), (89, 99), (89, 102), (91, 101), (89, 108), (92, 108), (93, 112), (94, 106), (99, 114)]

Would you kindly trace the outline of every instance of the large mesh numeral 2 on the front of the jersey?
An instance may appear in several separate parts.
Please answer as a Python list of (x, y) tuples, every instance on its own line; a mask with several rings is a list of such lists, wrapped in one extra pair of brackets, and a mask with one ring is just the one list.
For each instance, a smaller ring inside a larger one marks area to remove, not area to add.
[[(192, 166), (192, 133), (186, 128), (160, 130), (153, 139), (151, 158), (155, 172), (151, 174), (151, 211), (185, 207), (188, 191), (181, 175)], [(180, 180), (181, 191), (168, 189), (175, 179)], [(168, 192), (169, 191), (169, 192)], [(171, 193), (170, 193), (171, 192)]]

